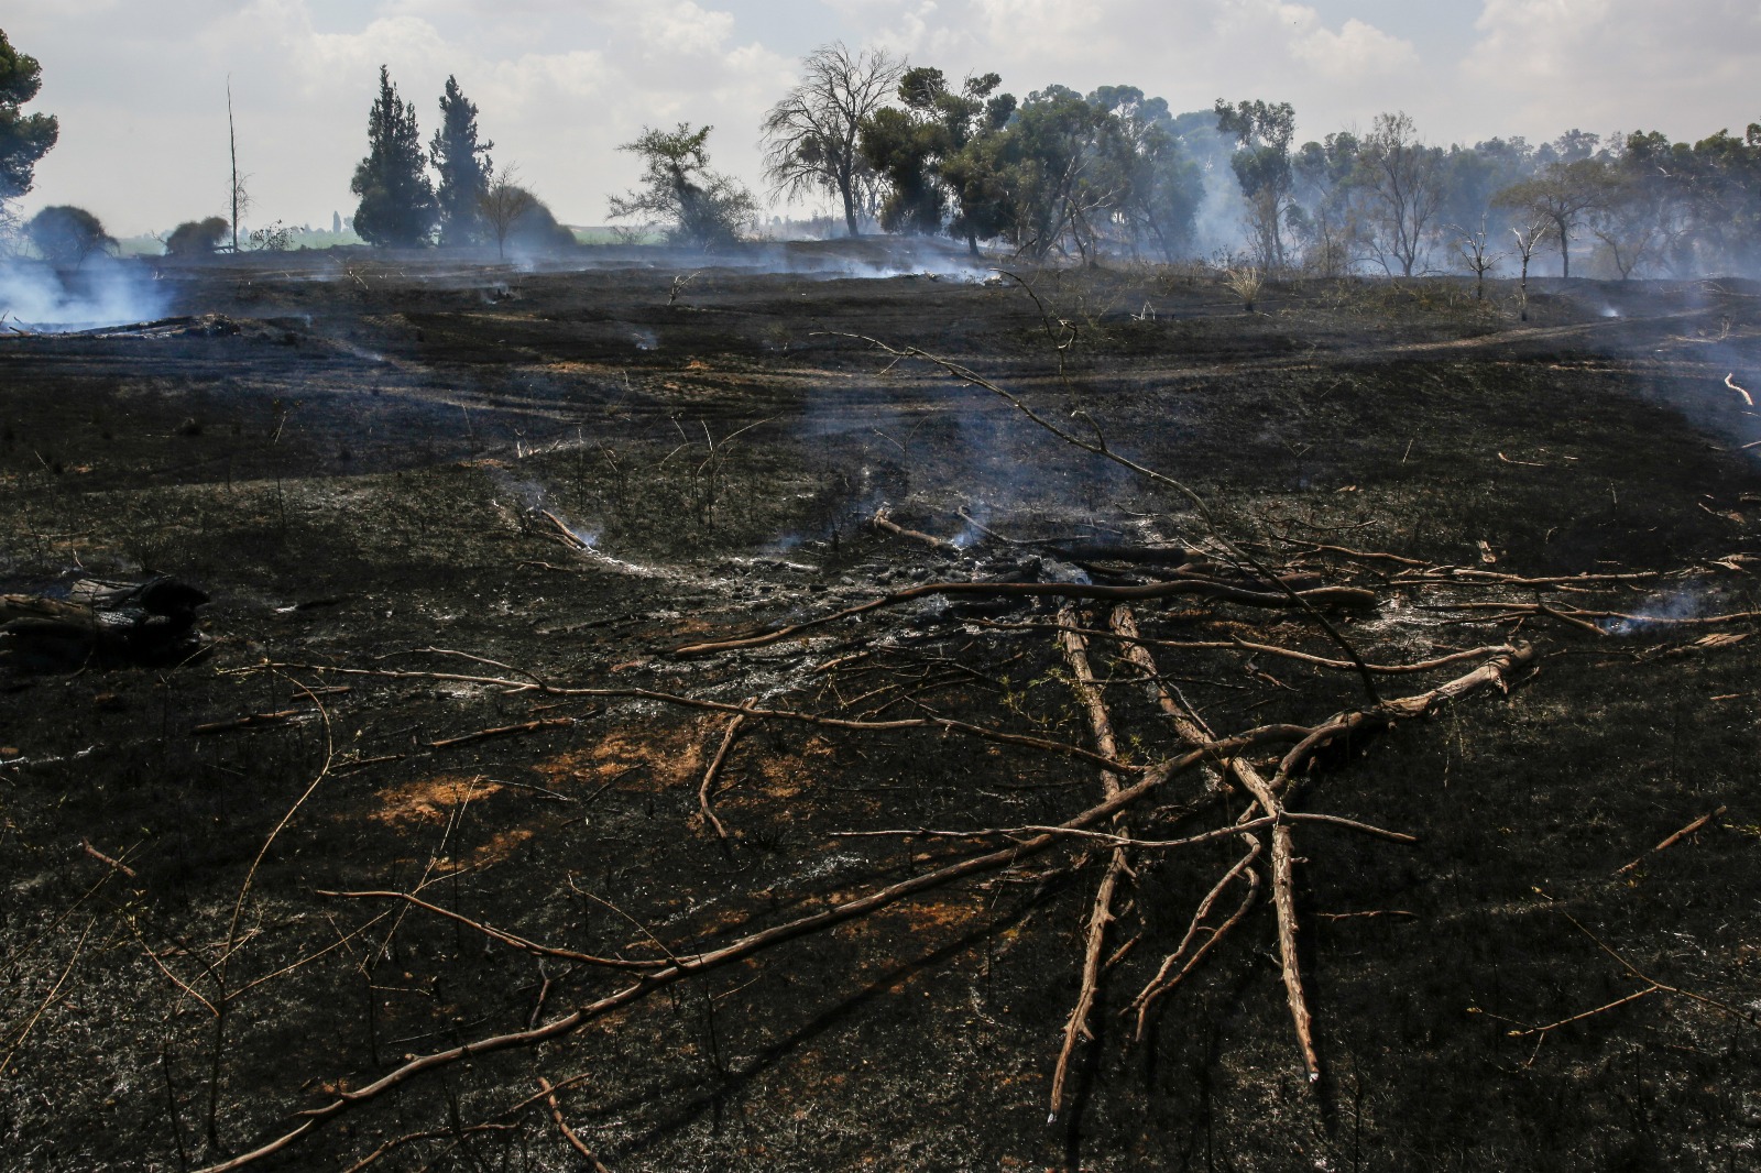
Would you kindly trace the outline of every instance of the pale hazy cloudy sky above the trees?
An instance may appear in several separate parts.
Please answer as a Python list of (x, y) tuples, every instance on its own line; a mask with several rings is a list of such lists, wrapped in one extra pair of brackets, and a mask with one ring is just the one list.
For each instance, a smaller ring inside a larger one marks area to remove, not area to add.
[(7, 0), (0, 28), (62, 120), (26, 211), (76, 203), (116, 234), (222, 211), (229, 74), (247, 222), (350, 215), (380, 62), (424, 136), (456, 74), (495, 160), (571, 224), (604, 222), (645, 123), (713, 123), (717, 166), (757, 185), (764, 109), (835, 39), (1018, 95), (1289, 100), (1303, 137), (1388, 109), (1435, 143), (1761, 120), (1756, 0)]

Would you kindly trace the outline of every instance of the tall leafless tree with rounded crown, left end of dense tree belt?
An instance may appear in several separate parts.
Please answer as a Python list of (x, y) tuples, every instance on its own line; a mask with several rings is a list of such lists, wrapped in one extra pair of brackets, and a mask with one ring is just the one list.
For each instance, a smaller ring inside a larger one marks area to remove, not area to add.
[(858, 211), (872, 211), (879, 176), (859, 148), (861, 125), (898, 86), (905, 62), (886, 49), (856, 56), (842, 42), (801, 58), (801, 81), (764, 116), (764, 178), (778, 196), (815, 188), (844, 203), (844, 222), (859, 236)]

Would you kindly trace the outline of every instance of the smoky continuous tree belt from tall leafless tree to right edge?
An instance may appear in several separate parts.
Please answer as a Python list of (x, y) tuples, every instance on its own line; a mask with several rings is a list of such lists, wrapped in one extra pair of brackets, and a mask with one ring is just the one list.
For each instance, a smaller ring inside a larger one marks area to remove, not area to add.
[[(1426, 143), (1405, 113), (1296, 143), (1289, 102), (1173, 114), (1136, 86), (1016, 100), (884, 53), (828, 46), (764, 122), (777, 196), (819, 190), (847, 231), (942, 232), (1034, 257), (1220, 257), (1321, 277), (1412, 277), (1585, 259), (1606, 277), (1761, 268), (1761, 123), (1698, 143), (1661, 132)], [(1222, 188), (1227, 224), (1199, 224)]]

